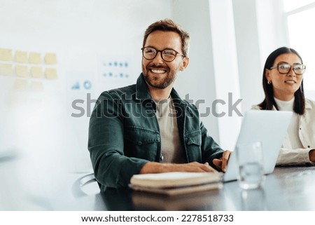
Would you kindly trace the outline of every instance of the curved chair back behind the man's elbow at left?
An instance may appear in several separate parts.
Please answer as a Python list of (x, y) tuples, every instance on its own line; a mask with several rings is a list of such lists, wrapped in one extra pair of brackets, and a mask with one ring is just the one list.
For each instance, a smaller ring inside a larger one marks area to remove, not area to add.
[[(87, 185), (92, 184), (96, 182), (98, 185)], [(88, 188), (87, 188), (88, 186)], [(97, 179), (94, 177), (94, 173), (90, 173), (87, 175), (84, 175), (82, 177), (79, 177), (76, 179), (75, 182), (73, 182), (71, 191), (75, 198), (80, 198), (83, 196), (89, 195), (89, 193), (98, 193), (100, 189), (100, 184), (97, 182)]]

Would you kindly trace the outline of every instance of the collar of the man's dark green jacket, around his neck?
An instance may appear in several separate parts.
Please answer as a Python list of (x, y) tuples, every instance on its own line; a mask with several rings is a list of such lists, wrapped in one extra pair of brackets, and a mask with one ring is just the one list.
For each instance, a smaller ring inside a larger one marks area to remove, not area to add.
[[(180, 102), (181, 104), (187, 104), (186, 102), (184, 102), (183, 100), (181, 100), (181, 97), (179, 96), (179, 94), (176, 92), (176, 90), (174, 88), (172, 88), (171, 91), (171, 96), (173, 98), (173, 100), (176, 100), (178, 102)], [(152, 100), (152, 96), (148, 90), (148, 86), (146, 84), (146, 81), (144, 80), (144, 74), (140, 74), (140, 76), (137, 79), (137, 83), (136, 83), (136, 97), (139, 100)]]

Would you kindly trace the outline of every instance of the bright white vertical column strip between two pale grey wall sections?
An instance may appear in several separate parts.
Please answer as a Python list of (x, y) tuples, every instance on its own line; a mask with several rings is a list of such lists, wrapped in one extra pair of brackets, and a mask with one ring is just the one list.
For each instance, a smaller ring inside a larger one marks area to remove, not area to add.
[(211, 42), (218, 104), (218, 132), (223, 149), (234, 150), (241, 125), (243, 99), (239, 90), (239, 71), (235, 24), (231, 0), (210, 2)]

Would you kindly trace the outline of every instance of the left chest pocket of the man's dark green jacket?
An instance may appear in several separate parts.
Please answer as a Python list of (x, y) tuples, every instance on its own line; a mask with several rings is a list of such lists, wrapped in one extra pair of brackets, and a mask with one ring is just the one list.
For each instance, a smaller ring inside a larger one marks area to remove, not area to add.
[(155, 161), (159, 145), (160, 133), (157, 130), (139, 126), (125, 127), (124, 151), (126, 156)]

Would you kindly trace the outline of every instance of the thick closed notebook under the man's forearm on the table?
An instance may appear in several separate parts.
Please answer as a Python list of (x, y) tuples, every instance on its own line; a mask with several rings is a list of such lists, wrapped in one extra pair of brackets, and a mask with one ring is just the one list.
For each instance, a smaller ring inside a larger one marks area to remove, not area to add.
[(179, 195), (220, 189), (219, 172), (163, 172), (134, 175), (130, 187), (136, 191), (148, 191), (167, 195)]

